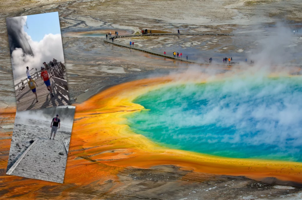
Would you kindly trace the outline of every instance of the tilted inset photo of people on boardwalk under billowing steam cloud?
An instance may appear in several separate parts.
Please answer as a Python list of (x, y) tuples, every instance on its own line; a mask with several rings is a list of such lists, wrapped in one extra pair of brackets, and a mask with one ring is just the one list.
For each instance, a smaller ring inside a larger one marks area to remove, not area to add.
[(69, 105), (58, 12), (6, 18), (17, 110)]

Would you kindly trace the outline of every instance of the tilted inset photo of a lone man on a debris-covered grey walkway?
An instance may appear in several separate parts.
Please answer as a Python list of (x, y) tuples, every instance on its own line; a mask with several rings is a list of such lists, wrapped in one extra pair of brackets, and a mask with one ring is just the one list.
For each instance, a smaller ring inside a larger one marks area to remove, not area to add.
[(6, 174), (63, 183), (75, 108), (17, 111)]

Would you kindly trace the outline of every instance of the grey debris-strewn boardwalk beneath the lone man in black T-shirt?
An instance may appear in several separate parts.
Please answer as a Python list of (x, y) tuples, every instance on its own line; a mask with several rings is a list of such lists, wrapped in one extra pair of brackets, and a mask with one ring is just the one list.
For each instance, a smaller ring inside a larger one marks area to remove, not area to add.
[[(37, 138), (7, 174), (63, 183), (68, 150), (65, 149), (62, 139), (50, 140), (49, 135)], [(64, 155), (59, 155), (59, 152)]]

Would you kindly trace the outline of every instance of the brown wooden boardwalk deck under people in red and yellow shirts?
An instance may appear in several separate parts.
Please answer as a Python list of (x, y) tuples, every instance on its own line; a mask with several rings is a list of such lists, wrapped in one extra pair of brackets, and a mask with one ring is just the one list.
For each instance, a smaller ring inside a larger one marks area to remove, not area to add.
[(44, 81), (40, 77), (37, 78), (35, 82), (37, 83), (36, 92), (38, 96), (38, 102), (36, 103), (36, 96), (27, 86), (16, 95), (18, 111), (69, 105), (68, 98), (64, 97), (56, 91), (56, 87), (52, 78), (50, 78), (50, 83), (53, 89), (54, 97), (50, 95), (50, 92), (44, 84)]

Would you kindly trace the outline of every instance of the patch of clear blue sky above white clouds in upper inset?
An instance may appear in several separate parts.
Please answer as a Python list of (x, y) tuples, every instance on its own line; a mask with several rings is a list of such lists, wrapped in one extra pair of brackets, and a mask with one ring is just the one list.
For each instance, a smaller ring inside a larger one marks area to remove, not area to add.
[(27, 15), (26, 23), (24, 31), (33, 41), (39, 42), (46, 34), (61, 34), (58, 12)]

